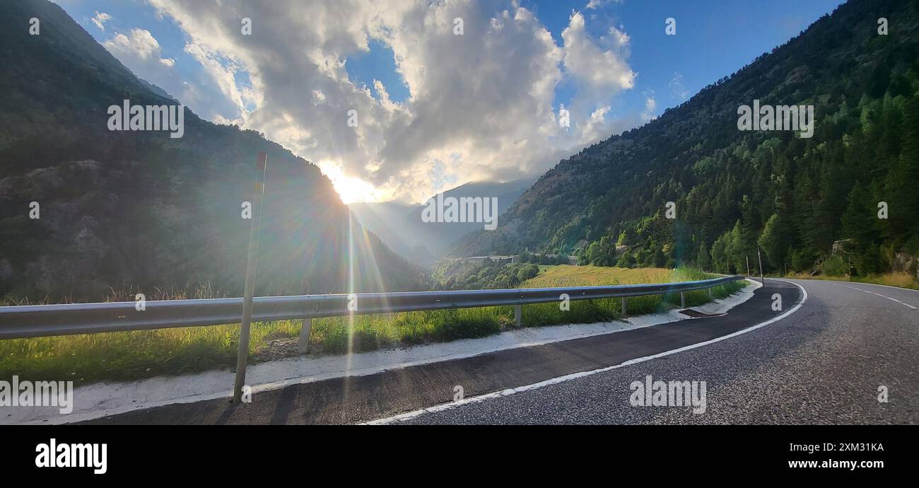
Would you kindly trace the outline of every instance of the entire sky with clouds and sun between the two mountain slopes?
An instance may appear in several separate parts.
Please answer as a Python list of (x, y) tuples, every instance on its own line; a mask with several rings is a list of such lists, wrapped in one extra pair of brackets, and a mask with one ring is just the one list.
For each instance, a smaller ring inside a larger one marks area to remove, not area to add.
[(345, 203), (421, 203), (471, 181), (539, 176), (841, 3), (55, 2), (200, 117), (318, 165)]

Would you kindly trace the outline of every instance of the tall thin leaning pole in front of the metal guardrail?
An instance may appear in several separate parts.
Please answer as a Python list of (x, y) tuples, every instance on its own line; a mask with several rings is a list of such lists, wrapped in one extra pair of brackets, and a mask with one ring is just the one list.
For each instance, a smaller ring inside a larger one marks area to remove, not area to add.
[(249, 326), (252, 322), (252, 297), (255, 295), (255, 264), (258, 262), (258, 232), (262, 223), (262, 199), (265, 196), (265, 172), (268, 155), (258, 153), (258, 181), (252, 195), (252, 225), (249, 227), (249, 253), (245, 260), (245, 294), (243, 320), (239, 324), (239, 353), (236, 356), (236, 382), (233, 385), (233, 403), (243, 401), (245, 363), (249, 358)]

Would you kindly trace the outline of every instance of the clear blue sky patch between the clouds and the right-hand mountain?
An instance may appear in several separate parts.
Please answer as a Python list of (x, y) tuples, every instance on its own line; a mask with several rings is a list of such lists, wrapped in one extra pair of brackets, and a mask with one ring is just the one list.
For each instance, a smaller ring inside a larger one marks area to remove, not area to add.
[[(652, 90), (655, 115), (679, 105), (682, 93), (693, 96), (720, 77), (732, 74), (763, 52), (797, 36), (815, 20), (833, 12), (839, 0), (610, 1), (590, 12), (587, 29), (600, 37), (609, 26), (623, 27), (631, 38), (630, 64), (636, 88), (624, 93), (626, 109), (639, 109)], [(559, 42), (572, 10), (584, 1), (524, 1)], [(584, 10), (583, 10), (584, 11)], [(586, 11), (585, 11), (586, 12)], [(676, 20), (676, 35), (664, 34), (665, 19)], [(674, 80), (678, 83), (674, 83)], [(673, 87), (671, 85), (674, 85)], [(556, 103), (573, 96), (571, 85), (556, 91)]]

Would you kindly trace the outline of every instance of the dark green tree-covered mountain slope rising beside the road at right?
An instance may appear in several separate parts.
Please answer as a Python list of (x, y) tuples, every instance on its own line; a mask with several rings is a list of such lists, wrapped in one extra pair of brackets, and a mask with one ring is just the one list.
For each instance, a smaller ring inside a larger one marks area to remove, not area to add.
[[(919, 251), (919, 3), (853, 0), (652, 122), (542, 176), (459, 255), (580, 249), (599, 265), (754, 262), (810, 271), (836, 251), (860, 273)], [(888, 33), (879, 33), (879, 18)], [(740, 131), (738, 108), (812, 105), (811, 138)], [(666, 204), (675, 202), (675, 219)], [(879, 219), (879, 203), (888, 218)], [(842, 242), (840, 242), (842, 241)], [(910, 264), (912, 263), (912, 264)]]

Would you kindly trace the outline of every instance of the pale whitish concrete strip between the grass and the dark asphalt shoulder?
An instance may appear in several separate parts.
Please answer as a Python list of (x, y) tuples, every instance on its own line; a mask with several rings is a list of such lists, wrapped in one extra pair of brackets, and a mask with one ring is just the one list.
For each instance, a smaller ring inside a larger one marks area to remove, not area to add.
[[(694, 310), (705, 313), (727, 312), (751, 298), (753, 289), (757, 288), (759, 288), (758, 281), (730, 297), (710, 301), (694, 307)], [(255, 364), (250, 367), (246, 378), (251, 381), (250, 386), (254, 394), (271, 392), (313, 381), (366, 376), (382, 371), (474, 357), (518, 347), (543, 346), (582, 337), (617, 334), (637, 328), (685, 320), (698, 319), (671, 310), (664, 313), (631, 316), (625, 322), (526, 327), (498, 335), (424, 346), (380, 349), (357, 353), (350, 357), (346, 355), (292, 357)], [(177, 403), (225, 399), (233, 396), (232, 391), (223, 390), (221, 387), (226, 384), (233, 384), (233, 371), (228, 369), (202, 371), (176, 377), (154, 377), (130, 382), (94, 383), (74, 390), (74, 397), (79, 399), (79, 402), (74, 407), (72, 414), (61, 415), (57, 407), (19, 408), (14, 409), (9, 416), (0, 416), (0, 426), (68, 424)]]

